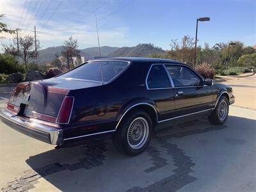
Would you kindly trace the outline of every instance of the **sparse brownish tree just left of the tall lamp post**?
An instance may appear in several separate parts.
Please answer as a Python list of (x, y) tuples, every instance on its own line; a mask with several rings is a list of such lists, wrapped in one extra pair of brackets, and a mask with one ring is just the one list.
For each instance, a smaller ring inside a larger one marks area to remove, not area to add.
[(194, 51), (195, 51), (195, 40), (190, 36), (184, 36), (181, 42), (172, 40), (171, 50), (168, 51), (168, 57), (174, 60), (183, 61), (188, 65), (193, 65)]

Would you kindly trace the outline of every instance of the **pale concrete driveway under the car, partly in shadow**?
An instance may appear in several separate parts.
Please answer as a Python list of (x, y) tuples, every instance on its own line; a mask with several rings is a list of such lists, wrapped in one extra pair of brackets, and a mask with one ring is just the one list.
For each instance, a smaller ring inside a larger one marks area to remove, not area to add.
[[(241, 108), (252, 100), (255, 102), (253, 82), (244, 87), (250, 88), (251, 96), (246, 96), (240, 107), (230, 106), (224, 125), (211, 125), (205, 118), (158, 127), (149, 148), (136, 157), (119, 154), (109, 140), (56, 149), (0, 121), (0, 188), (2, 191), (256, 191), (256, 111)], [(243, 85), (243, 81), (234, 83), (236, 99), (240, 94), (236, 88), (243, 88), (237, 84)], [(0, 87), (0, 90), (0, 107), (3, 107), (12, 88)]]

